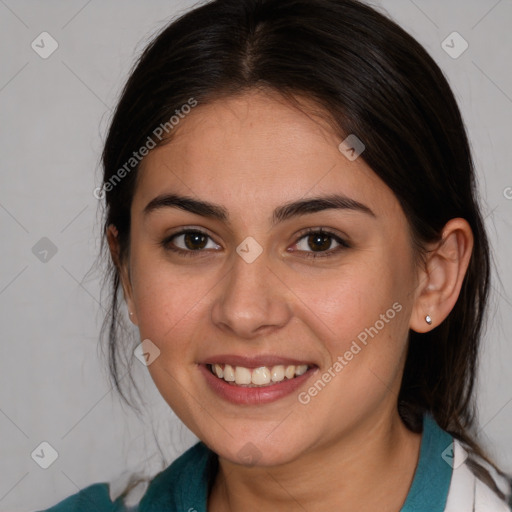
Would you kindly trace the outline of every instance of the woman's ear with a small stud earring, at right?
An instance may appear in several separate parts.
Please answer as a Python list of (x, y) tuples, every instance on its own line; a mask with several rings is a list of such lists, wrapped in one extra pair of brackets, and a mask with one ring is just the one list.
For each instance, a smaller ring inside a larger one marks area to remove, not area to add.
[[(473, 232), (468, 222), (462, 218), (448, 221), (441, 241), (431, 246), (419, 273), (409, 324), (413, 331), (430, 331), (449, 315), (459, 297), (472, 250)], [(426, 322), (427, 315), (432, 324)]]

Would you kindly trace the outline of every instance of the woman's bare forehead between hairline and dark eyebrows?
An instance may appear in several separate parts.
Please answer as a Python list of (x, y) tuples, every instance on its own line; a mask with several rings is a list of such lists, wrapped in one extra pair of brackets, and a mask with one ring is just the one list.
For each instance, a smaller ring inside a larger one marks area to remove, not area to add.
[(339, 151), (340, 135), (309, 107), (253, 91), (193, 108), (172, 140), (143, 160), (134, 207), (174, 191), (235, 215), (333, 192), (376, 212), (396, 208), (392, 191), (362, 158), (350, 161)]

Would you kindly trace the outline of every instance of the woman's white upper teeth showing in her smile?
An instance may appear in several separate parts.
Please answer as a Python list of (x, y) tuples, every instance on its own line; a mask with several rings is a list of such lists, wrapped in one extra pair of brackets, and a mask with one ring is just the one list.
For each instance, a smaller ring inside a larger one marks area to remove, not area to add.
[(272, 366), (260, 366), (259, 368), (244, 368), (243, 366), (231, 366), (229, 364), (213, 364), (210, 365), (213, 373), (224, 379), (226, 382), (234, 382), (239, 385), (256, 385), (265, 386), (270, 382), (281, 382), (286, 377), (287, 379), (293, 379), (295, 376), (302, 375), (308, 370), (307, 364), (301, 364), (298, 366), (288, 365), (284, 366), (279, 364)]

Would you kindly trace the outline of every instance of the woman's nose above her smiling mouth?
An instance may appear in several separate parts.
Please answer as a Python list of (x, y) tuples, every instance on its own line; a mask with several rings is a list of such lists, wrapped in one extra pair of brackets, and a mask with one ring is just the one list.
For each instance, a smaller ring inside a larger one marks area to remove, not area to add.
[(292, 316), (290, 290), (268, 266), (265, 252), (252, 263), (238, 254), (216, 287), (212, 321), (226, 334), (253, 339), (285, 326)]

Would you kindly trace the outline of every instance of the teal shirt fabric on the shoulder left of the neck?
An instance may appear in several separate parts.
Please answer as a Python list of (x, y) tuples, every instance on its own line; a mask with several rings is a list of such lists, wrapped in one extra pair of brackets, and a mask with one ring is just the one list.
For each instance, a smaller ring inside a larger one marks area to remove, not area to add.
[[(204, 484), (204, 470), (211, 452), (203, 443), (198, 442), (165, 470), (154, 476), (140, 501), (140, 510), (155, 503), (169, 504), (177, 492)], [(139, 507), (128, 507), (123, 501), (123, 487), (108, 482), (92, 484), (80, 492), (68, 496), (53, 507), (38, 512), (130, 512)]]

